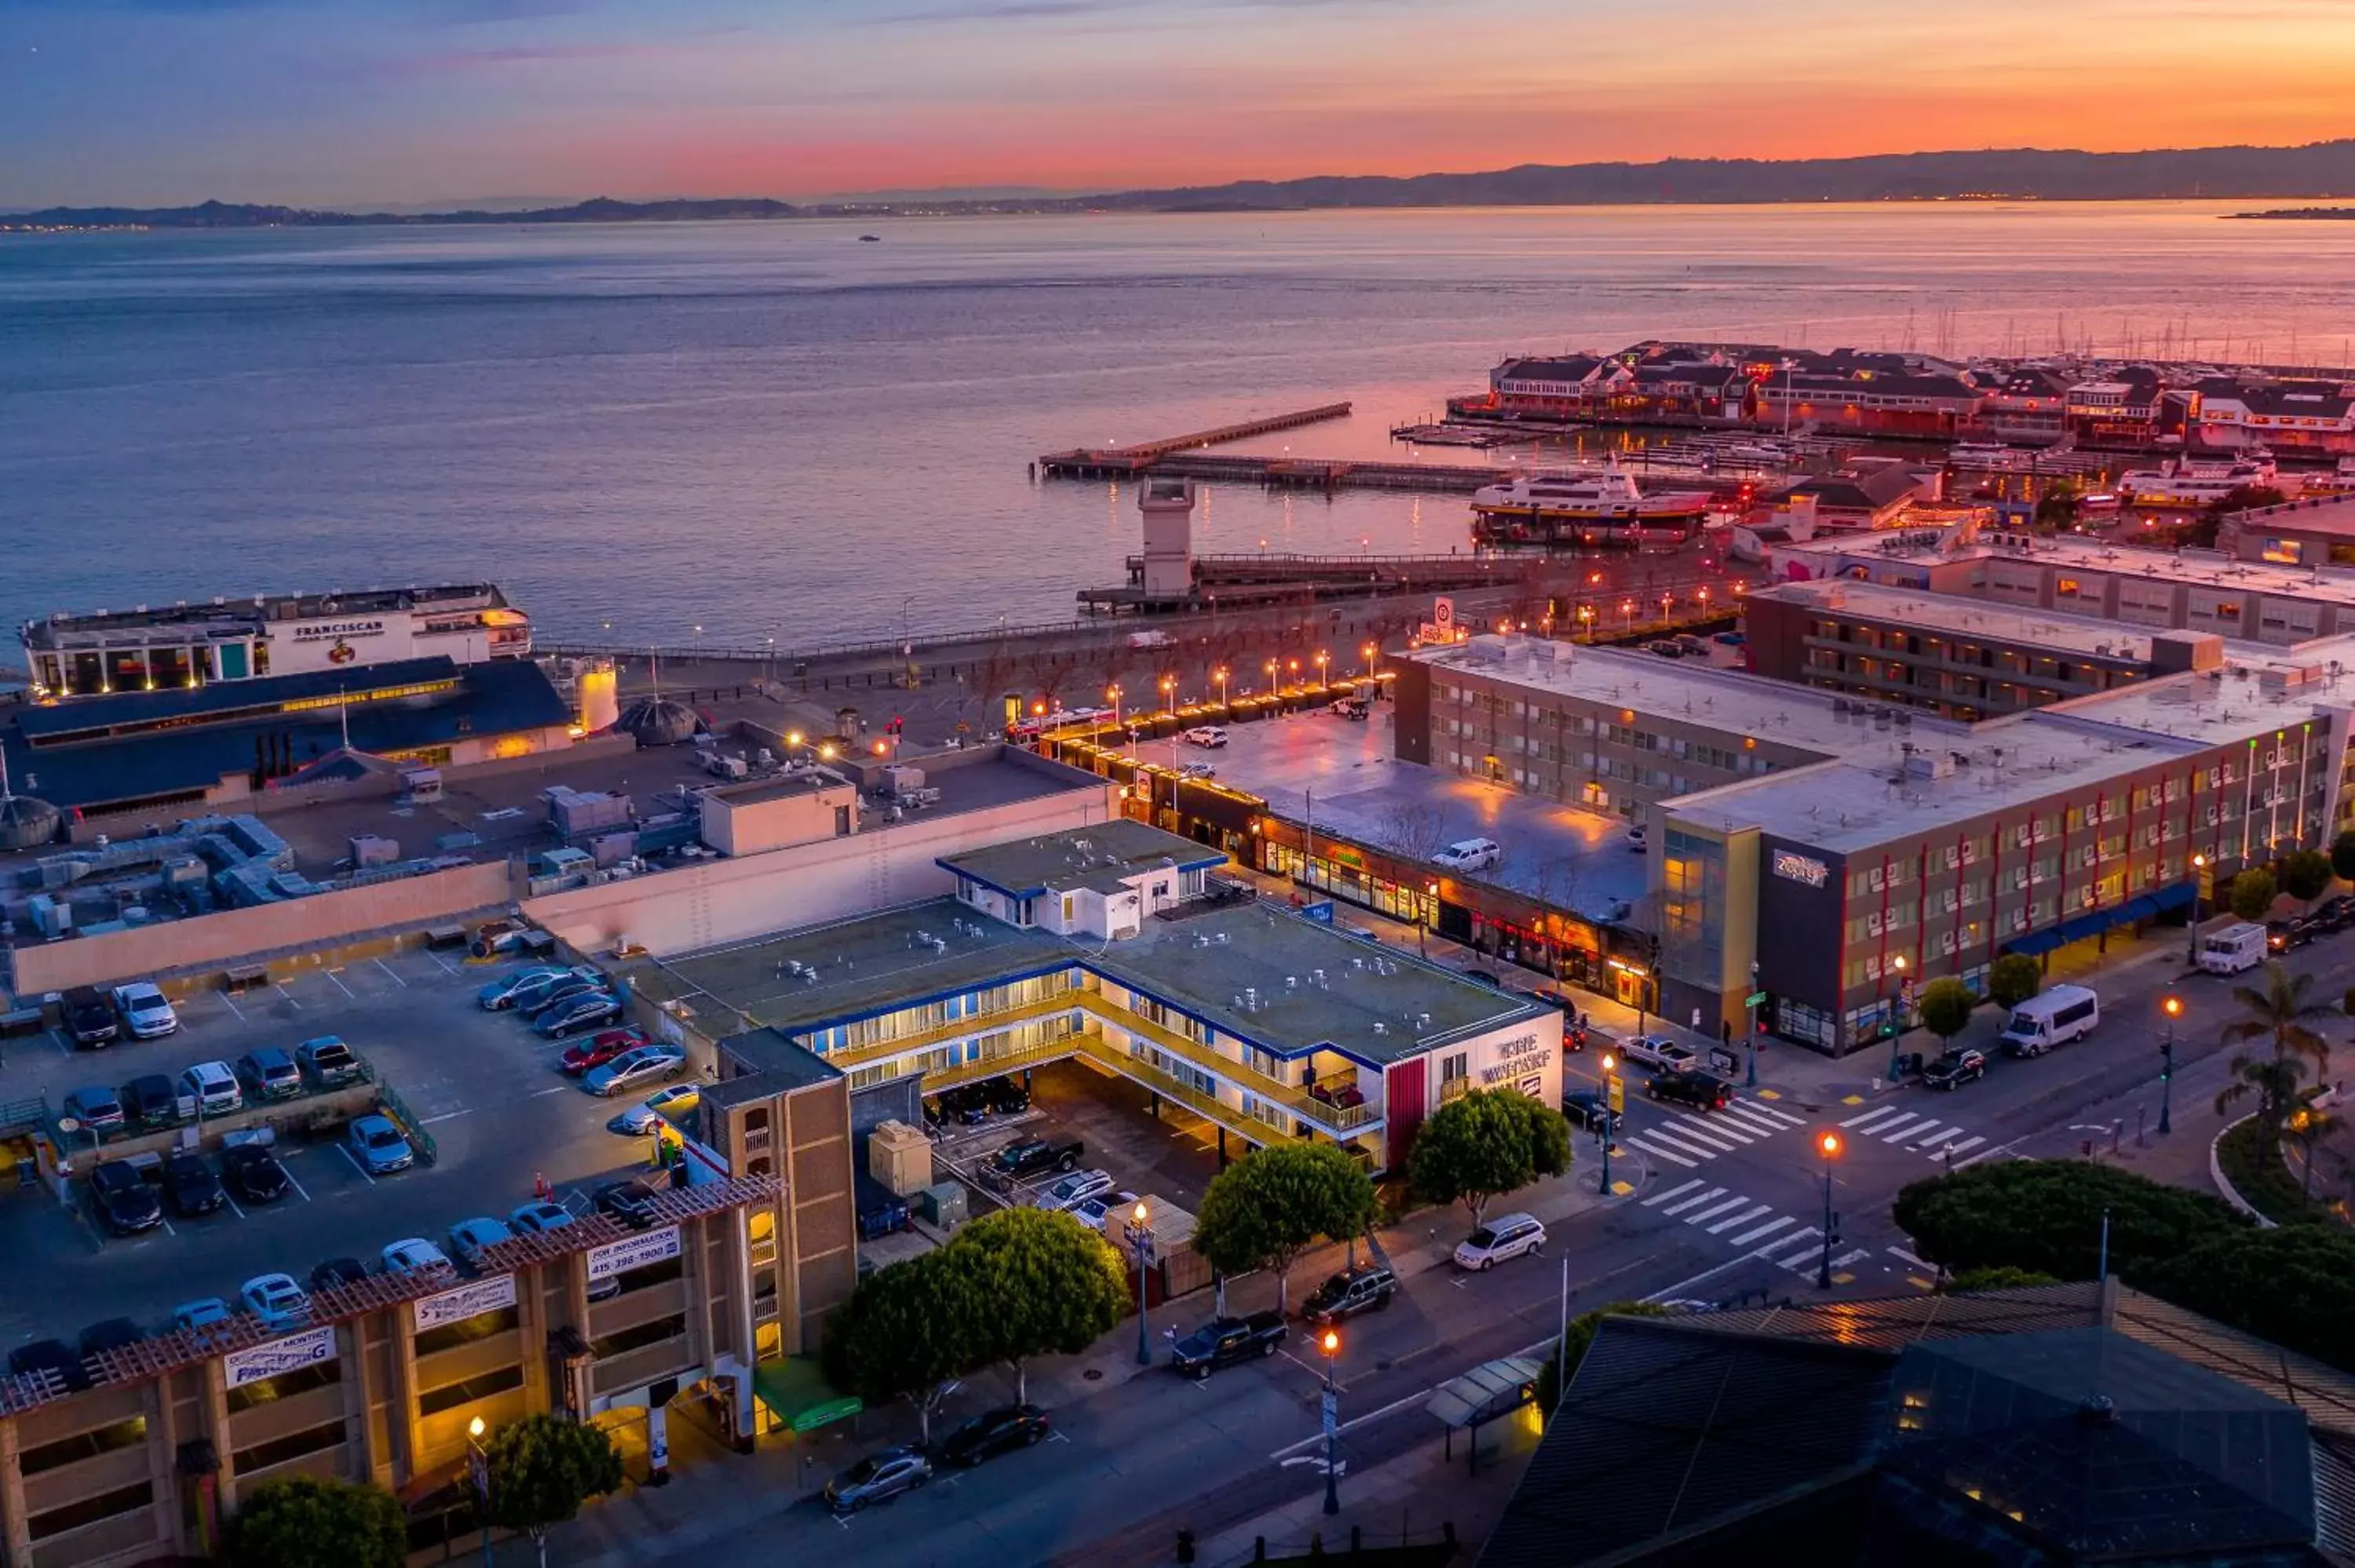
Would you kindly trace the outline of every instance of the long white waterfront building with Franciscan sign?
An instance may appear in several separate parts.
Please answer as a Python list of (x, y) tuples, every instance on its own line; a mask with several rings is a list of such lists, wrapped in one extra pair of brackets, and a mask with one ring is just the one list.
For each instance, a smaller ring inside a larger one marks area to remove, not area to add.
[(443, 657), (523, 659), (532, 619), (497, 584), (257, 593), (24, 624), (35, 697), (106, 697)]

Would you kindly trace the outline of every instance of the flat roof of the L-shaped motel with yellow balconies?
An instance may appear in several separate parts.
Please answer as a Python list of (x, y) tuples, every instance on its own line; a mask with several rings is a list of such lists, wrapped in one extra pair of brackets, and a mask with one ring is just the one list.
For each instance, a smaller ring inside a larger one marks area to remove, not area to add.
[[(798, 965), (798, 968), (796, 968)], [(1319, 1048), (1392, 1062), (1451, 1036), (1545, 1012), (1408, 954), (1269, 904), (1182, 909), (1123, 942), (1064, 939), (928, 899), (758, 942), (641, 961), (648, 996), (685, 998), (704, 1022), (742, 1019), (730, 1050), (768, 1071), (763, 1029), (897, 1012), (1024, 975), (1086, 965), (1281, 1055)], [(1380, 1029), (1375, 1029), (1380, 1024)], [(770, 1036), (777, 1045), (782, 1038)]]

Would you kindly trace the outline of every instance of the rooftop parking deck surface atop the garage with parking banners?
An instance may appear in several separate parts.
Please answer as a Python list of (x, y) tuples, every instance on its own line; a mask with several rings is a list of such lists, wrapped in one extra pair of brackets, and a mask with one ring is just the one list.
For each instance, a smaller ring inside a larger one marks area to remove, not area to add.
[[(89, 1220), (85, 1182), (73, 1205), (45, 1187), (0, 1196), (0, 1255), (31, 1290), (0, 1297), (0, 1344), (71, 1340), (87, 1323), (127, 1316), (160, 1326), (193, 1297), (233, 1300), (257, 1274), (297, 1278), (327, 1257), (374, 1262), (407, 1236), (443, 1243), (471, 1215), (504, 1217), (546, 1177), (575, 1208), (584, 1187), (641, 1168), (650, 1140), (622, 1137), (605, 1121), (645, 1090), (596, 1099), (556, 1069), (560, 1045), (542, 1041), (513, 1012), (483, 1012), (476, 989), (513, 968), (476, 965), (452, 954), (403, 951), (344, 968), (320, 968), (243, 996), (205, 991), (174, 998), (181, 1029), (160, 1041), (118, 1041), (71, 1050), (52, 1031), (9, 1041), (0, 1099), (47, 1097), (52, 1111), (82, 1085), (118, 1088), (141, 1074), (179, 1076), (207, 1059), (337, 1034), (365, 1057), (377, 1081), (410, 1107), (436, 1158), (374, 1177), (337, 1142), (337, 1130), (290, 1140), (278, 1156), (292, 1191), (264, 1208), (231, 1198), (217, 1212), (165, 1217), (134, 1238), (106, 1238)], [(217, 1161), (214, 1161), (217, 1163)], [(75, 1149), (75, 1172), (89, 1149)]]

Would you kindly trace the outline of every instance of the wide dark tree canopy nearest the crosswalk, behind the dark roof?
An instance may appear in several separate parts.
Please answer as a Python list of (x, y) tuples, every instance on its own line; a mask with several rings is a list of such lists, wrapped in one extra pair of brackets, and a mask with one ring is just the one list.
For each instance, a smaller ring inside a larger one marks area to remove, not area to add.
[(2014, 1267), (2054, 1278), (2094, 1278), (2103, 1215), (2110, 1267), (2129, 1278), (2249, 1224), (2223, 1198), (2091, 1161), (1988, 1161), (1912, 1182), (1891, 1215), (1915, 1253), (1950, 1274)]

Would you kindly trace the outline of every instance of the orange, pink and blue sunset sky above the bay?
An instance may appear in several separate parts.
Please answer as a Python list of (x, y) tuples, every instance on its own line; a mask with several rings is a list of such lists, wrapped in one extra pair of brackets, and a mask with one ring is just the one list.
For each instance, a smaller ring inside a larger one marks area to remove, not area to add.
[(0, 207), (2355, 134), (2355, 0), (0, 0)]

